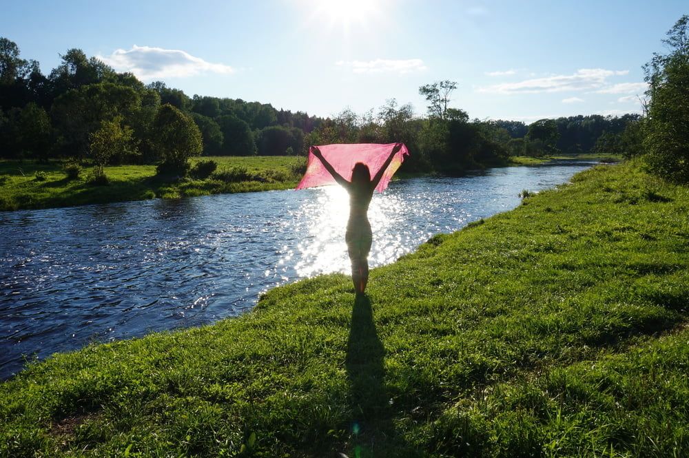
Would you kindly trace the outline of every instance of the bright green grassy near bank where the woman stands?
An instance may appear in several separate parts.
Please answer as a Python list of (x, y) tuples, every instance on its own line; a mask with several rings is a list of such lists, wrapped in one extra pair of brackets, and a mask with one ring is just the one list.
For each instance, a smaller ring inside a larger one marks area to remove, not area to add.
[(600, 166), (371, 271), (0, 386), (0, 455), (681, 457), (689, 189)]

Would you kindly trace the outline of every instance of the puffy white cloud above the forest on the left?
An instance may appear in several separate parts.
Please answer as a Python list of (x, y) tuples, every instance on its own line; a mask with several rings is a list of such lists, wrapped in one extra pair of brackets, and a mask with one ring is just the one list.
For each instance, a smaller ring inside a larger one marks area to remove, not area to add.
[(132, 72), (143, 80), (194, 76), (201, 73), (233, 73), (222, 63), (210, 63), (181, 50), (137, 46), (128, 51), (115, 50), (110, 56), (98, 56), (119, 72)]

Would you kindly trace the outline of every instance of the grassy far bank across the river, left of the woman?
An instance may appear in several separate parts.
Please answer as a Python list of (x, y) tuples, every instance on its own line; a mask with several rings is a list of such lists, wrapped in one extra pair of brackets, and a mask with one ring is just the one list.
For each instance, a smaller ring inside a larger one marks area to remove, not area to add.
[(156, 176), (154, 165), (120, 165), (105, 167), (105, 186), (89, 183), (88, 168), (69, 180), (58, 161), (0, 160), (0, 210), (289, 189), (298, 183), (305, 163), (294, 156), (218, 156), (194, 158), (192, 165), (209, 159), (218, 163), (218, 170), (204, 180)]

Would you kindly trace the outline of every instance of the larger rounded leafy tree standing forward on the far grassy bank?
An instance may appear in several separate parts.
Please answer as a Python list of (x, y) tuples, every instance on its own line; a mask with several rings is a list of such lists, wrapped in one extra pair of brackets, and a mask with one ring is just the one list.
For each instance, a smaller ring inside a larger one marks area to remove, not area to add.
[(166, 103), (158, 110), (154, 127), (154, 145), (163, 160), (158, 171), (182, 176), (187, 174), (189, 158), (199, 156), (203, 151), (201, 132), (194, 120)]

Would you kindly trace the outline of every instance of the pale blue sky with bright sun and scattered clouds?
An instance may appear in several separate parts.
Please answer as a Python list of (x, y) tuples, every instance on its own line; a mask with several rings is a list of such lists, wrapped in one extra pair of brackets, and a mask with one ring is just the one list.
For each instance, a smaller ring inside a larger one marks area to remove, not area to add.
[[(59, 3), (67, 3), (60, 5)], [(100, 4), (103, 3), (103, 4)], [(329, 116), (457, 81), (472, 118), (638, 112), (684, 1), (13, 1), (0, 35), (43, 72), (81, 48), (145, 83)]]

